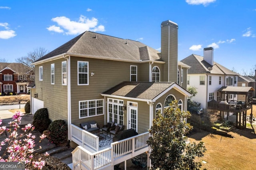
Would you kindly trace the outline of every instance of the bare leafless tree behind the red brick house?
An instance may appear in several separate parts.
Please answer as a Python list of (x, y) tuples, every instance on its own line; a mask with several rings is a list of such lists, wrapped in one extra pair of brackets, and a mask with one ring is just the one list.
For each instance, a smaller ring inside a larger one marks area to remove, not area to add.
[(34, 51), (29, 52), (26, 56), (15, 59), (17, 63), (23, 63), (28, 67), (33, 67), (31, 63), (40, 59), (44, 55), (46, 55), (48, 51), (44, 47), (35, 48)]

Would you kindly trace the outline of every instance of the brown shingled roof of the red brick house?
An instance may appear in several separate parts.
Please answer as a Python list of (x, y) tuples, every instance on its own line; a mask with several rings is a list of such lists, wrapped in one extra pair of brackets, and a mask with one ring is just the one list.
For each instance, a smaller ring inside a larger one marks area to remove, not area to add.
[(22, 63), (0, 63), (0, 73), (6, 68), (18, 74), (26, 74), (29, 70), (29, 67)]

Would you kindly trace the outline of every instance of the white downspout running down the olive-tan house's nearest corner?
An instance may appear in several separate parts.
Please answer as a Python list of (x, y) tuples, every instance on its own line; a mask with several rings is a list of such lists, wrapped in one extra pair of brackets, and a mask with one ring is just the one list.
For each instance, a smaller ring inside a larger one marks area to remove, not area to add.
[(68, 85), (68, 140), (70, 140), (70, 125), (71, 125), (71, 107), (70, 107), (70, 99), (71, 99), (71, 87), (70, 87), (70, 55), (68, 55), (68, 58), (66, 58), (64, 55), (62, 56), (64, 59), (67, 60), (67, 71), (68, 71), (68, 75), (67, 75), (67, 85)]

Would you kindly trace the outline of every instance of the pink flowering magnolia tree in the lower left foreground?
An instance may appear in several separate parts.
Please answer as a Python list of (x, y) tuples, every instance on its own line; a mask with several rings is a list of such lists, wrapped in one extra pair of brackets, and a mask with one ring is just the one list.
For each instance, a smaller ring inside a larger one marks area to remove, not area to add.
[[(12, 116), (14, 121), (8, 123), (10, 125), (9, 128), (6, 126), (0, 127), (0, 135), (4, 132), (9, 134), (5, 140), (0, 141), (0, 150), (2, 149), (2, 146), (7, 146), (4, 153), (0, 155), (0, 162), (25, 162), (26, 170), (42, 169), (45, 165), (44, 160), (39, 158), (38, 161), (32, 161), (32, 153), (36, 151), (34, 149), (34, 146), (36, 145), (34, 139), (36, 136), (31, 133), (31, 131), (34, 130), (33, 125), (26, 125), (24, 128), (21, 128), (22, 133), (18, 134), (22, 115), (23, 114), (20, 113), (20, 111), (17, 111), (15, 115)], [(0, 120), (0, 125), (1, 124), (2, 120)], [(41, 142), (45, 137), (46, 135), (42, 134), (39, 142)], [(41, 146), (39, 149), (41, 149)], [(48, 156), (49, 154), (46, 152), (45, 155)]]

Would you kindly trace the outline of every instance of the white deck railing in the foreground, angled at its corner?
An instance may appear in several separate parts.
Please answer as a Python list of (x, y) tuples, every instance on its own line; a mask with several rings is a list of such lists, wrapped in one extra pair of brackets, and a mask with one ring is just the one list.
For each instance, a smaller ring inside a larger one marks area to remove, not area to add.
[[(83, 148), (82, 146), (76, 147), (72, 152), (72, 162), (73, 170), (79, 169), (99, 169), (104, 166), (112, 165), (119, 162), (115, 162), (121, 156), (130, 154), (127, 156), (126, 160), (141, 154), (141, 152), (136, 152), (144, 148), (143, 152), (149, 150), (148, 144), (146, 143), (149, 138), (149, 132), (145, 132), (124, 140), (120, 140), (111, 144), (111, 147), (98, 152), (90, 152), (89, 150)], [(148, 147), (148, 148), (147, 148)]]

